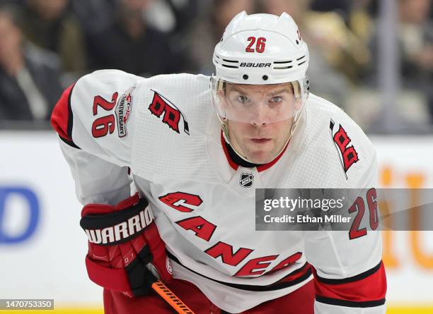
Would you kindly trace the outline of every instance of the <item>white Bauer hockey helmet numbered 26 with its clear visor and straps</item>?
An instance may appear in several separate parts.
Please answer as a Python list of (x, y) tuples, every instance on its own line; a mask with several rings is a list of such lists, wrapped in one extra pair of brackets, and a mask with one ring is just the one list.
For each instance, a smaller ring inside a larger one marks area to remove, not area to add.
[[(221, 41), (214, 49), (213, 63), (216, 75), (212, 77), (212, 102), (217, 109), (226, 140), (227, 121), (233, 119), (249, 123), (248, 108), (265, 104), (267, 95), (248, 97), (250, 104), (239, 105), (238, 98), (230, 99), (228, 86), (285, 84), (290, 87), (291, 97), (285, 106), (270, 110), (267, 123), (294, 119), (291, 133), (296, 127), (306, 99), (308, 98), (309, 54), (299, 28), (287, 13), (272, 14), (238, 13), (227, 25)], [(241, 99), (243, 101), (243, 99)], [(294, 106), (294, 103), (297, 106)], [(244, 103), (244, 102), (242, 102)], [(287, 106), (287, 104), (289, 104)], [(243, 110), (236, 111), (242, 107)], [(289, 107), (294, 109), (289, 110)]]

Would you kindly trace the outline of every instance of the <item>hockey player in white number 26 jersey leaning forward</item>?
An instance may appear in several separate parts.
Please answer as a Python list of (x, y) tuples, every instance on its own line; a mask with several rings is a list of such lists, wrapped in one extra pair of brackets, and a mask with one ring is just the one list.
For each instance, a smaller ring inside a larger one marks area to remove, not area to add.
[(172, 313), (157, 277), (195, 313), (385, 313), (379, 231), (255, 231), (255, 188), (376, 184), (366, 135), (308, 95), (294, 20), (239, 13), (213, 62), (96, 71), (54, 109), (105, 313)]

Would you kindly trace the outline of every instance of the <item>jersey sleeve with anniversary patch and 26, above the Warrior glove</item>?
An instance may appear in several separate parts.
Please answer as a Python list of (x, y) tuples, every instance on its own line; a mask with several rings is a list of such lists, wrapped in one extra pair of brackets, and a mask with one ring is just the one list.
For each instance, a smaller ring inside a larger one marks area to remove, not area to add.
[(51, 123), (83, 204), (115, 204), (130, 194), (137, 85), (144, 80), (115, 70), (96, 71), (63, 92)]

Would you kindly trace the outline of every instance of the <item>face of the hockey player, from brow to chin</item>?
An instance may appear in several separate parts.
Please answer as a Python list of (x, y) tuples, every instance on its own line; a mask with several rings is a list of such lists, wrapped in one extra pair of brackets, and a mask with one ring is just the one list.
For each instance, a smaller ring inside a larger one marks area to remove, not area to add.
[(275, 159), (289, 139), (299, 107), (292, 85), (229, 84), (225, 97), (233, 149), (255, 164)]

